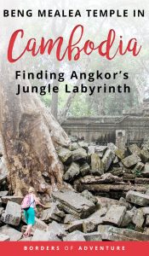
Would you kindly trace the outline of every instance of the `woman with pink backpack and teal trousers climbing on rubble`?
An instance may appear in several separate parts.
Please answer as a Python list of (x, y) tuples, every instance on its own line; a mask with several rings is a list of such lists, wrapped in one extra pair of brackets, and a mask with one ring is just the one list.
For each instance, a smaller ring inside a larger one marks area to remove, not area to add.
[(36, 205), (44, 207), (35, 195), (35, 189), (30, 187), (30, 189), (28, 190), (28, 195), (25, 196), (21, 204), (21, 208), (24, 210), (27, 223), (26, 232), (23, 234), (23, 236), (25, 237), (31, 235), (32, 226), (35, 224)]

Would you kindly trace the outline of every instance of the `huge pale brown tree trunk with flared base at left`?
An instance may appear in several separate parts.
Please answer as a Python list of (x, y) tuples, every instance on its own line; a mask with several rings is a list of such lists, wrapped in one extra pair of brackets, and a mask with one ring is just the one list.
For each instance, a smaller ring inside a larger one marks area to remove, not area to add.
[[(9, 189), (15, 195), (22, 195), (33, 186), (49, 200), (51, 189), (62, 184), (63, 166), (55, 147), (68, 146), (69, 139), (36, 94), (16, 96), (11, 65), (3, 65), (1, 73), (4, 76), (0, 83), (0, 131), (9, 169)], [(25, 81), (20, 80), (20, 86), (31, 87)]]

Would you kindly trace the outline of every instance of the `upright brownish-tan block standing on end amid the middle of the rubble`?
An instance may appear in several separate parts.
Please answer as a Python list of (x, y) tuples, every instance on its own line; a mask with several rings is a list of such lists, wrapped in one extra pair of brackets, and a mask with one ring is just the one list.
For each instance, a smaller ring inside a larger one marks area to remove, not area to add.
[(91, 154), (91, 173), (101, 175), (104, 173), (102, 162), (98, 154)]

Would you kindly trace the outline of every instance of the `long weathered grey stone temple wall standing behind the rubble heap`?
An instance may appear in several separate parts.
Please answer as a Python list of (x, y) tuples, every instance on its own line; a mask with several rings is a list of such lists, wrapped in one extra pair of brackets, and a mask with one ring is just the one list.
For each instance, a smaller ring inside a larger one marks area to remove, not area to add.
[(149, 117), (141, 115), (69, 118), (62, 127), (70, 136), (100, 145), (140, 144), (146, 142), (149, 137)]

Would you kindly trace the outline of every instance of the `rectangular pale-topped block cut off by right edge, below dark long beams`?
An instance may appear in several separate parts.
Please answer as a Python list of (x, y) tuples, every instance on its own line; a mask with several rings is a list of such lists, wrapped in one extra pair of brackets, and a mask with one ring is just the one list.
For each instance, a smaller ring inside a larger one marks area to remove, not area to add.
[(149, 206), (149, 195), (130, 190), (126, 195), (126, 201), (129, 201), (140, 207), (147, 207)]

